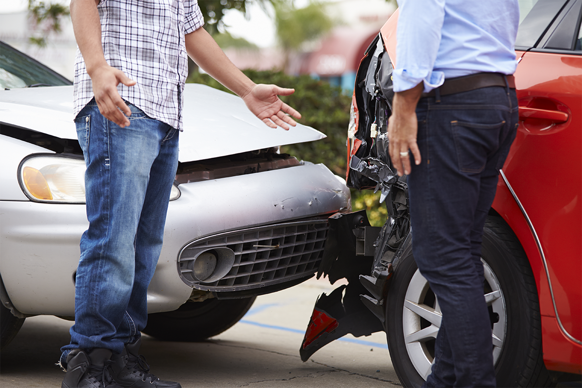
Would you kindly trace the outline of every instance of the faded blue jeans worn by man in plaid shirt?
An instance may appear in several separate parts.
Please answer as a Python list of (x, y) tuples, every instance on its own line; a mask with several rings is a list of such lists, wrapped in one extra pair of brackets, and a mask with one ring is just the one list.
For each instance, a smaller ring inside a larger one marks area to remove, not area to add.
[(162, 248), (179, 131), (128, 105), (125, 128), (105, 119), (94, 99), (75, 119), (87, 165), (89, 228), (81, 237), (75, 324), (61, 349), (63, 365), (74, 348), (121, 353), (147, 322), (147, 288)]

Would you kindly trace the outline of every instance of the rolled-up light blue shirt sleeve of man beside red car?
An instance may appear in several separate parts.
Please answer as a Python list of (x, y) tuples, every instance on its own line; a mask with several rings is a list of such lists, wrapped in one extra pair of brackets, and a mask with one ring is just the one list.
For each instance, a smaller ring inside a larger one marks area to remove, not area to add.
[(445, 0), (398, 0), (396, 30), (395, 92), (424, 82), (424, 92), (445, 81), (443, 72), (433, 71), (445, 19)]

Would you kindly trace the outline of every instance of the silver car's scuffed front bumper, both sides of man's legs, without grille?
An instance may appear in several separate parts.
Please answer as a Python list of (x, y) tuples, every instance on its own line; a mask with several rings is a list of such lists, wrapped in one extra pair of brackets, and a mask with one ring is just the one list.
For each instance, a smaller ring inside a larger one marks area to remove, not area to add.
[[(200, 237), (325, 215), (349, 206), (345, 184), (324, 165), (305, 165), (180, 184), (169, 203), (164, 245), (148, 289), (148, 311), (171, 311), (192, 288), (177, 267)], [(0, 201), (0, 273), (23, 314), (74, 315), (73, 273), (88, 222), (84, 205)]]

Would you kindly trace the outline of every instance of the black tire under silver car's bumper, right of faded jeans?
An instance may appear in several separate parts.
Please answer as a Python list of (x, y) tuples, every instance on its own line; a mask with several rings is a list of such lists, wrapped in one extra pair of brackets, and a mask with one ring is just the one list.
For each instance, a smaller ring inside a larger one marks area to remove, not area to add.
[(203, 341), (239, 322), (254, 300), (255, 297), (211, 298), (203, 302), (186, 302), (174, 311), (149, 314), (143, 332), (165, 341)]

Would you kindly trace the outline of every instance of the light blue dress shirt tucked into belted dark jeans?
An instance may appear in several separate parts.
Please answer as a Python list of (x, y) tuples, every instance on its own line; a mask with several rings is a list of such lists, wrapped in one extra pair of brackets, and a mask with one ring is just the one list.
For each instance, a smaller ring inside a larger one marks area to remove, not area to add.
[(479, 72), (513, 74), (517, 0), (398, 0), (394, 91)]

